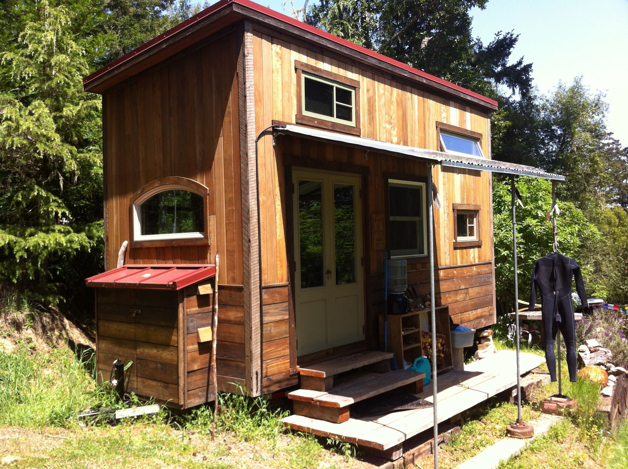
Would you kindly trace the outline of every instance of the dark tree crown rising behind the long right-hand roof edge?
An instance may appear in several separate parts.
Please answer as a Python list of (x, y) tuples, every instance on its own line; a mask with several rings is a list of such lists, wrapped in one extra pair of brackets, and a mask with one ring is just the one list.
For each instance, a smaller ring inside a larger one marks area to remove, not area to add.
[(471, 33), (471, 8), (486, 0), (322, 0), (308, 23), (490, 97), (497, 86), (526, 94), (532, 65), (509, 63), (519, 36), (495, 34), (483, 45)]

